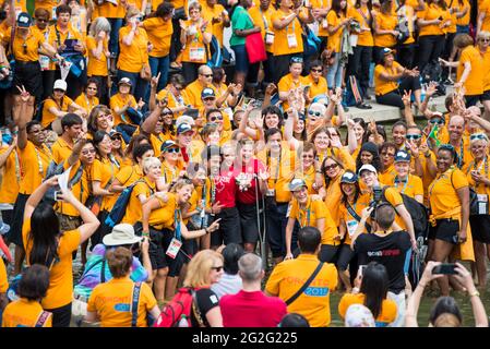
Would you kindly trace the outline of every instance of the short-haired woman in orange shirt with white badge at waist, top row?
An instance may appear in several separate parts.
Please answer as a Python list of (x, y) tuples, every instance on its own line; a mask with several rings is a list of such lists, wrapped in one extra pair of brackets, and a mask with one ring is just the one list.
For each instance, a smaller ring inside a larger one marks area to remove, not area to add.
[(187, 84), (198, 77), (199, 68), (207, 62), (206, 45), (212, 38), (213, 26), (202, 17), (202, 5), (192, 2), (189, 5), (189, 21), (180, 21), (182, 75)]

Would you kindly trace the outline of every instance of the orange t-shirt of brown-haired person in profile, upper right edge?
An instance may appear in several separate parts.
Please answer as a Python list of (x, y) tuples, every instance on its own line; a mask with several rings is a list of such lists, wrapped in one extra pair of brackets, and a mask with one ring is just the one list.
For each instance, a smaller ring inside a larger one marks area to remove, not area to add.
[(481, 95), (483, 93), (483, 59), (475, 46), (467, 46), (463, 49), (459, 57), (459, 64), (456, 70), (456, 80), (459, 81), (463, 75), (463, 71), (465, 70), (465, 63), (469, 62), (471, 65), (471, 71), (469, 72), (468, 77), (464, 83), (464, 87), (466, 88), (465, 95), (474, 96)]

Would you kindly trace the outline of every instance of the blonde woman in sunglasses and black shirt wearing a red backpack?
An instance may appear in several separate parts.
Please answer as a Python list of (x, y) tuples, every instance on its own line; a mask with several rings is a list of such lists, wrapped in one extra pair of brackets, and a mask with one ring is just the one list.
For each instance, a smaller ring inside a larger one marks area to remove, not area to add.
[(192, 326), (223, 327), (218, 298), (210, 288), (222, 277), (223, 266), (223, 255), (213, 250), (200, 251), (189, 263), (183, 286), (194, 289), (196, 310), (202, 321), (201, 324), (194, 312), (191, 312)]

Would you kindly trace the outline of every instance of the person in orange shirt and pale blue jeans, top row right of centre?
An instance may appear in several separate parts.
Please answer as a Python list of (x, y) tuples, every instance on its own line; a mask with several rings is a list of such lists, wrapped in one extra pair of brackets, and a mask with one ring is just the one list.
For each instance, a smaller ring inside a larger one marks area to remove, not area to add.
[(344, 31), (348, 29), (350, 17), (347, 17), (347, 0), (332, 0), (332, 10), (326, 15), (328, 22), (328, 40), (326, 48), (332, 51), (334, 62), (328, 67), (326, 81), (331, 89), (342, 87), (344, 80), (344, 62), (340, 62), (342, 38)]

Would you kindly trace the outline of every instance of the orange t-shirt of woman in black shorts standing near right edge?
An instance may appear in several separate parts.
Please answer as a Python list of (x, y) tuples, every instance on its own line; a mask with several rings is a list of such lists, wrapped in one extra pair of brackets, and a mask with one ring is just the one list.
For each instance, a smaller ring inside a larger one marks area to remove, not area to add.
[[(434, 216), (442, 215), (461, 206), (456, 190), (468, 186), (465, 173), (457, 168), (452, 168), (444, 173), (438, 173), (429, 185), (430, 208)], [(461, 212), (454, 215), (459, 217)]]

